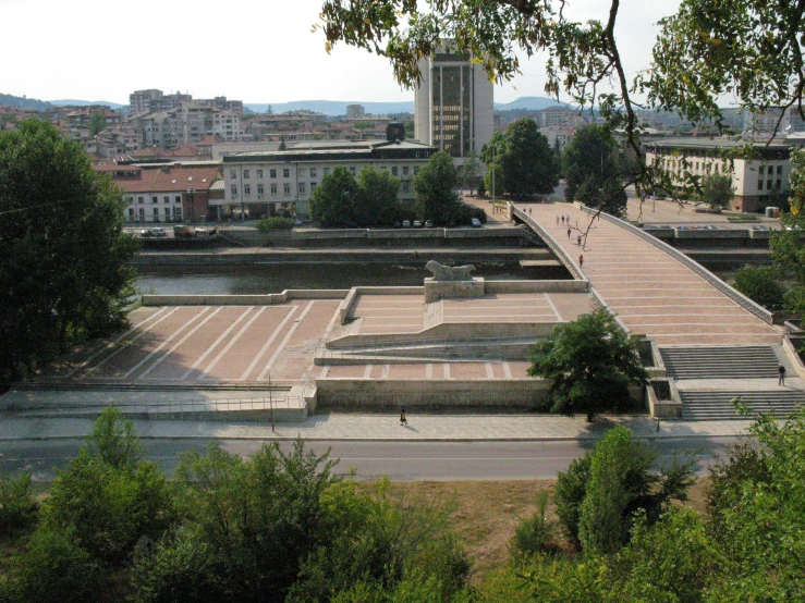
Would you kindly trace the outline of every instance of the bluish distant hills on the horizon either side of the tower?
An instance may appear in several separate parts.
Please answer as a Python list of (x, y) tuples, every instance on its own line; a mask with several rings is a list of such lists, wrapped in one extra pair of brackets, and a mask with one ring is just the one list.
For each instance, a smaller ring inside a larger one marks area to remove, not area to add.
[[(56, 102), (56, 101), (53, 101)], [(413, 113), (414, 101), (410, 102), (365, 102), (365, 101), (340, 101), (340, 100), (295, 100), (292, 102), (246, 102), (244, 107), (255, 113), (265, 113), (269, 104), (275, 113), (285, 111), (315, 111), (328, 116), (345, 115), (347, 104), (362, 104), (367, 113), (373, 115), (391, 115), (397, 113)], [(525, 96), (512, 102), (496, 102), (497, 111), (511, 111), (515, 109), (536, 111), (548, 107), (562, 104), (550, 98), (540, 96)]]

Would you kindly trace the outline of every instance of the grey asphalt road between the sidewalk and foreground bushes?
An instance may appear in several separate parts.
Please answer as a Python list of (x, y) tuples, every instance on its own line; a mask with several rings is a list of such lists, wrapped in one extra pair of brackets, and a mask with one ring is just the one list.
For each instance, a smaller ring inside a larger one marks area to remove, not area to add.
[[(656, 440), (660, 463), (670, 463), (674, 453), (697, 454), (700, 471), (722, 453), (734, 438), (680, 438)], [(147, 457), (169, 473), (176, 466), (179, 453), (203, 452), (212, 440), (146, 441)], [(249, 455), (263, 444), (256, 441), (217, 440), (225, 451)], [(68, 465), (81, 447), (81, 441), (10, 441), (0, 443), (3, 471), (31, 472), (34, 480), (51, 481), (54, 467)], [(291, 444), (284, 443), (283, 447)], [(361, 480), (388, 476), (392, 481), (417, 480), (529, 480), (552, 479), (584, 454), (589, 441), (542, 442), (315, 442), (307, 447), (340, 458), (337, 472), (351, 467)]]

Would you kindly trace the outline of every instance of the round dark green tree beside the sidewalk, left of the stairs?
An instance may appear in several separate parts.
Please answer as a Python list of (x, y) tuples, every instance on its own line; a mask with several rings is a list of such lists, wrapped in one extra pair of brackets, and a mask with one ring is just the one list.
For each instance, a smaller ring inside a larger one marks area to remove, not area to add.
[(559, 324), (537, 343), (528, 369), (550, 381), (551, 413), (595, 415), (630, 404), (630, 386), (648, 379), (636, 343), (605, 309)]

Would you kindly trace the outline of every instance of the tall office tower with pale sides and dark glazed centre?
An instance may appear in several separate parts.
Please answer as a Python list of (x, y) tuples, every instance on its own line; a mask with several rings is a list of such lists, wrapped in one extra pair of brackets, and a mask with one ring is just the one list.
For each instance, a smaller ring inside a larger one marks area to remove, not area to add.
[(448, 48), (419, 61), (414, 136), (461, 163), (492, 137), (493, 88), (483, 65)]

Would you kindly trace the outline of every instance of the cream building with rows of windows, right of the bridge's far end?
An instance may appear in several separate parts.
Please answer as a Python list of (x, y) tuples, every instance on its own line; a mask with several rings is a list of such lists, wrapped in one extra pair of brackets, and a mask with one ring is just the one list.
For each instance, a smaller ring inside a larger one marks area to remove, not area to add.
[(731, 209), (761, 211), (778, 205), (790, 189), (791, 144), (785, 140), (754, 143), (757, 159), (724, 159), (723, 153), (746, 145), (744, 140), (725, 138), (671, 138), (646, 143), (646, 163), (659, 165), (671, 174), (672, 181), (683, 186), (684, 172), (704, 177), (728, 174), (732, 177), (734, 197)]

